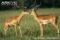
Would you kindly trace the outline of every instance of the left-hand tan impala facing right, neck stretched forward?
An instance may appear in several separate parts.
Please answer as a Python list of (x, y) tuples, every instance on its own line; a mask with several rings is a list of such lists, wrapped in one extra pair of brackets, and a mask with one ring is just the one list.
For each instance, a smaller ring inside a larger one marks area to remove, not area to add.
[[(6, 35), (6, 32), (7, 32), (9, 27), (14, 27), (15, 32), (16, 32), (16, 36), (17, 36), (17, 30), (16, 30), (17, 24), (19, 24), (21, 18), (24, 15), (27, 15), (27, 14), (29, 14), (28, 11), (22, 11), (19, 16), (13, 16), (13, 17), (10, 17), (10, 18), (6, 19), (5, 22), (4, 22), (4, 28), (3, 28), (5, 35)], [(21, 33), (21, 29), (20, 29), (20, 33)]]

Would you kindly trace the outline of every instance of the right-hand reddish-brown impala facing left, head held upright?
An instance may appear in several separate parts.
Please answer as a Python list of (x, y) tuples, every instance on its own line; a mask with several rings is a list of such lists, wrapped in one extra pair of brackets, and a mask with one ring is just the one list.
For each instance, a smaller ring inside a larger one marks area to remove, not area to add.
[(39, 15), (38, 16), (34, 8), (31, 10), (31, 15), (34, 16), (35, 20), (40, 25), (41, 36), (43, 36), (43, 25), (48, 24), (48, 23), (51, 23), (53, 27), (56, 28), (57, 33), (59, 33), (59, 28), (57, 25), (57, 16), (53, 16), (53, 15)]

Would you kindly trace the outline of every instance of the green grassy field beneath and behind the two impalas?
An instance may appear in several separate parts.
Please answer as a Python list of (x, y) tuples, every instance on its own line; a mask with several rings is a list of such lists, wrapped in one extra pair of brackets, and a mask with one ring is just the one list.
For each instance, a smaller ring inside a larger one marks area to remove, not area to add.
[[(59, 40), (57, 38), (57, 31), (51, 24), (47, 24), (44, 27), (44, 38), (40, 39), (39, 24), (36, 22), (33, 16), (26, 15), (22, 18), (19, 26), (21, 27), (22, 37), (20, 36), (17, 26), (18, 37), (16, 37), (14, 28), (11, 27), (7, 31), (7, 35), (3, 34), (3, 23), (10, 16), (20, 15), (21, 10), (6, 10), (0, 11), (0, 40)], [(56, 15), (58, 16), (58, 26), (60, 26), (60, 8), (40, 8), (37, 10), (38, 15)], [(60, 29), (60, 27), (59, 27)], [(48, 37), (48, 38), (47, 38)]]

